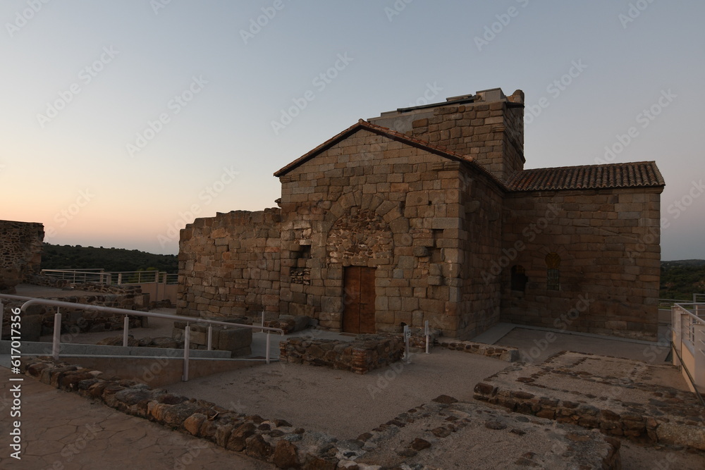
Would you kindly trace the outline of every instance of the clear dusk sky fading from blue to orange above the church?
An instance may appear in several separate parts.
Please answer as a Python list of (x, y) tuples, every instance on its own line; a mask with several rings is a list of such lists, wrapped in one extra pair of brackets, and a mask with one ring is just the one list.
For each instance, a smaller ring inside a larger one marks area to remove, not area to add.
[(527, 168), (655, 160), (662, 259), (703, 259), (702, 18), (701, 0), (4, 0), (0, 218), (176, 253), (195, 217), (275, 206), (272, 173), (359, 118), (502, 87), (526, 94)]

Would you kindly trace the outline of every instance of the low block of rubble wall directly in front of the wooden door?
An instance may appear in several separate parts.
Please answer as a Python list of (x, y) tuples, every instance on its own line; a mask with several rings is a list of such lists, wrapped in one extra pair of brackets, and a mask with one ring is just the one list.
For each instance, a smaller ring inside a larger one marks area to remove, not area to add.
[(401, 335), (358, 335), (353, 341), (289, 338), (279, 345), (279, 361), (367, 373), (399, 361)]

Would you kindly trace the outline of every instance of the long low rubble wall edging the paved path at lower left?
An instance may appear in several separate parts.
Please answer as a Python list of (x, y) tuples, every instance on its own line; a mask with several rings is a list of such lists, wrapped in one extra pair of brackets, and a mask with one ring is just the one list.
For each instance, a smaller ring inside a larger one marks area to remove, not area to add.
[(295, 428), (280, 419), (238, 414), (212, 402), (171, 395), (137, 381), (50, 359), (29, 359), (24, 367), (27, 376), (42, 383), (101, 400), (118, 411), (210, 440), (279, 469), (333, 470), (340, 460), (336, 438)]

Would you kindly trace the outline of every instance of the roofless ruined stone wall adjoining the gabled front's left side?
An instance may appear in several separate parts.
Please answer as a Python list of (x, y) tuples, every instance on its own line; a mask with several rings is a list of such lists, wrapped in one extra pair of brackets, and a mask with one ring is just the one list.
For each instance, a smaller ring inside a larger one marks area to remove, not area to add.
[(177, 314), (229, 317), (279, 311), (280, 211), (232, 211), (181, 230)]

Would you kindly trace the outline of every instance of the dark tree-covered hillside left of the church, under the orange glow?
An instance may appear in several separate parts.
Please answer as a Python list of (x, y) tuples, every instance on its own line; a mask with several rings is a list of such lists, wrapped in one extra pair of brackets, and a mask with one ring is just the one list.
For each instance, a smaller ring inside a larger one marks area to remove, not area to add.
[(157, 268), (178, 273), (178, 261), (173, 254), (152, 254), (137, 249), (94, 248), (76, 245), (44, 243), (42, 269), (103, 268), (105, 271), (142, 271)]

